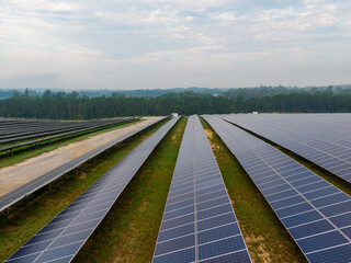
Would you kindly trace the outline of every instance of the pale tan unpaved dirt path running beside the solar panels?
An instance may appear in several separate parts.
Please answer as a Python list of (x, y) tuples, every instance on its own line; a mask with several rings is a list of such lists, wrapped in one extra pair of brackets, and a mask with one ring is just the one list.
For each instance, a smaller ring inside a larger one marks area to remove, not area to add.
[(144, 127), (160, 117), (145, 117), (146, 121), (95, 135), (87, 139), (63, 146), (53, 151), (30, 158), (11, 167), (0, 169), (0, 196), (16, 187), (76, 159), (111, 140)]

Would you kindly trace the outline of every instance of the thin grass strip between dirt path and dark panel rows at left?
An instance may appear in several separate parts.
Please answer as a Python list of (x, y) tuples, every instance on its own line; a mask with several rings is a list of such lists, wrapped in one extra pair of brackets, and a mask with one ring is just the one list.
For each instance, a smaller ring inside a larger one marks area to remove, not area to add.
[[(37, 148), (33, 148), (33, 147), (29, 147), (29, 146), (21, 147), (21, 148), (14, 150), (13, 156), (10, 156), (10, 153), (0, 156), (0, 169), (4, 168), (4, 167), (12, 165), (14, 163), (19, 163), (21, 161), (24, 161), (25, 159), (39, 156), (39, 155), (42, 155), (44, 152), (55, 150), (55, 149), (57, 149), (59, 147), (63, 147), (63, 146), (66, 146), (66, 145), (69, 145), (69, 144), (72, 144), (72, 142), (76, 142), (76, 141), (79, 141), (79, 140), (82, 140), (82, 139), (86, 139), (86, 138), (89, 138), (91, 136), (100, 135), (100, 134), (103, 134), (103, 133), (106, 133), (106, 132), (110, 132), (110, 130), (114, 130), (114, 129), (120, 129), (120, 128), (123, 128), (123, 127), (127, 127), (127, 126), (134, 125), (134, 124), (136, 124), (138, 122), (143, 122), (143, 121), (127, 123), (127, 124), (110, 127), (110, 128), (106, 128), (106, 129), (97, 130), (97, 132), (93, 132), (93, 133), (82, 134), (80, 136), (72, 137), (72, 138), (69, 138), (69, 139), (66, 139), (66, 140), (64, 140), (63, 138), (56, 139), (56, 140), (52, 140), (50, 145), (38, 145)], [(31, 150), (29, 150), (29, 149), (31, 149)]]

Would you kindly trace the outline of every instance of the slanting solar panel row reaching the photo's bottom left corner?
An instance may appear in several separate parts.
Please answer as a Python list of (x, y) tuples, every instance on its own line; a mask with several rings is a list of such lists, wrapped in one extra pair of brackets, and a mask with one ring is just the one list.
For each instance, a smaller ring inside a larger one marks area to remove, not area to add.
[(178, 119), (171, 119), (144, 140), (5, 262), (70, 262)]

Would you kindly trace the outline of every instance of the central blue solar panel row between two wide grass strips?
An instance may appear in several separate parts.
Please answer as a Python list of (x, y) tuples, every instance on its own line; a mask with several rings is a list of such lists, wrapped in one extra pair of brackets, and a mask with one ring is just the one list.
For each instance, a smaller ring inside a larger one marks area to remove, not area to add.
[(251, 262), (197, 116), (188, 119), (152, 262)]

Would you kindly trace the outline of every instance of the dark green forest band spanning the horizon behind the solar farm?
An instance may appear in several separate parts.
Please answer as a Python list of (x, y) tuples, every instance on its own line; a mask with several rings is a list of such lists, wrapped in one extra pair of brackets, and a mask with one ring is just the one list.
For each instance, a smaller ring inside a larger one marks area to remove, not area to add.
[(77, 91), (31, 95), (14, 92), (0, 100), (1, 117), (87, 119), (116, 116), (168, 115), (170, 113), (347, 113), (351, 112), (351, 89), (230, 89), (222, 94), (194, 91), (169, 92), (159, 96), (88, 96)]

